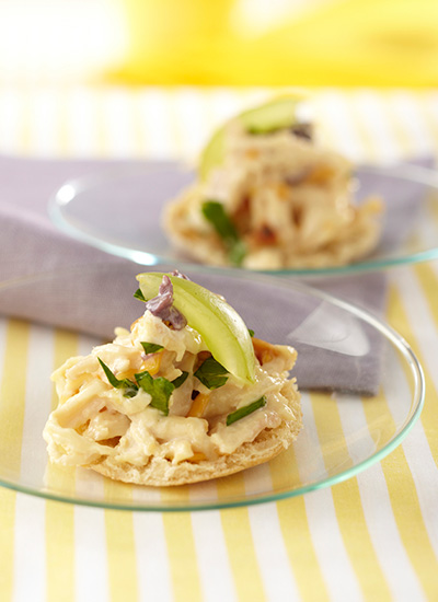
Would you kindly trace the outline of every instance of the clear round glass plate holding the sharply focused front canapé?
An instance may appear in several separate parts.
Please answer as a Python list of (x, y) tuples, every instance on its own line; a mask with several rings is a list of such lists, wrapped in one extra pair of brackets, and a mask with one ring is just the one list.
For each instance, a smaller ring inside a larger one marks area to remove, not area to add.
[(0, 317), (0, 485), (125, 510), (260, 503), (358, 474), (399, 445), (418, 418), (422, 368), (404, 339), (383, 322), (296, 280), (194, 267), (188, 276), (223, 293), (257, 337), (297, 348), (293, 374), (302, 391), (304, 428), (295, 444), (237, 475), (173, 488), (126, 485), (84, 468), (54, 467), (42, 438), (57, 405), (50, 373), (68, 357), (88, 354), (106, 333), (110, 337), (114, 325), (127, 326), (142, 313), (142, 303), (131, 294), (137, 271), (134, 265), (90, 266), (0, 285), (0, 312), (15, 315)]

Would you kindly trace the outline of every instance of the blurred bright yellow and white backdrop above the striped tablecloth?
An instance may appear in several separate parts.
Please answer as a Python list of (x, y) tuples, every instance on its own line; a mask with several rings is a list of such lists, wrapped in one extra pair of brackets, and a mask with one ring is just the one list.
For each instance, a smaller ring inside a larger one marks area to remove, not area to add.
[(435, 88), (438, 0), (0, 0), (0, 80)]

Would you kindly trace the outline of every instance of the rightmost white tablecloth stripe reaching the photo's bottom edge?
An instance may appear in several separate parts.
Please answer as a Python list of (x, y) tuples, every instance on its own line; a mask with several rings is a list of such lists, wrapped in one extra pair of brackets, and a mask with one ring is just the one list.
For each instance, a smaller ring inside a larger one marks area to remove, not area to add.
[[(404, 387), (406, 390), (405, 383)], [(360, 431), (364, 444), (372, 448), (364, 407), (355, 403), (339, 404), (338, 410), (344, 431)], [(423, 590), (400, 537), (380, 463), (359, 473), (356, 478), (368, 533), (394, 599), (402, 600), (408, 594), (411, 600), (419, 602), (424, 599)]]

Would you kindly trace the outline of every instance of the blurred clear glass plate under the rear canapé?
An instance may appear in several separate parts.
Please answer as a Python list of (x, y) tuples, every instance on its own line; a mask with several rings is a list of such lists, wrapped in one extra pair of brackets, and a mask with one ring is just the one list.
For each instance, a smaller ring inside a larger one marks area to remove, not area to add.
[[(171, 161), (142, 167), (113, 167), (72, 180), (49, 201), (53, 221), (71, 236), (107, 253), (153, 266), (194, 261), (176, 253), (161, 229), (165, 201), (194, 180), (194, 173)], [(369, 194), (384, 199), (383, 231), (378, 248), (361, 262), (332, 268), (274, 270), (312, 276), (354, 274), (438, 257), (438, 174), (423, 166), (359, 167), (356, 200)]]

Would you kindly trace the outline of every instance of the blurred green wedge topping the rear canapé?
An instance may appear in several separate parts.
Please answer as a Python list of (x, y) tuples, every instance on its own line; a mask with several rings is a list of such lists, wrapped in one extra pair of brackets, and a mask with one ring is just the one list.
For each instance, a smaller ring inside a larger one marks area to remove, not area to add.
[[(298, 95), (279, 96), (273, 101), (250, 108), (234, 117), (244, 128), (254, 135), (269, 134), (277, 129), (291, 127), (297, 121), (296, 107), (302, 97)], [(220, 127), (206, 144), (199, 159), (199, 176), (206, 180), (210, 170), (223, 160), (226, 130), (230, 121)]]

